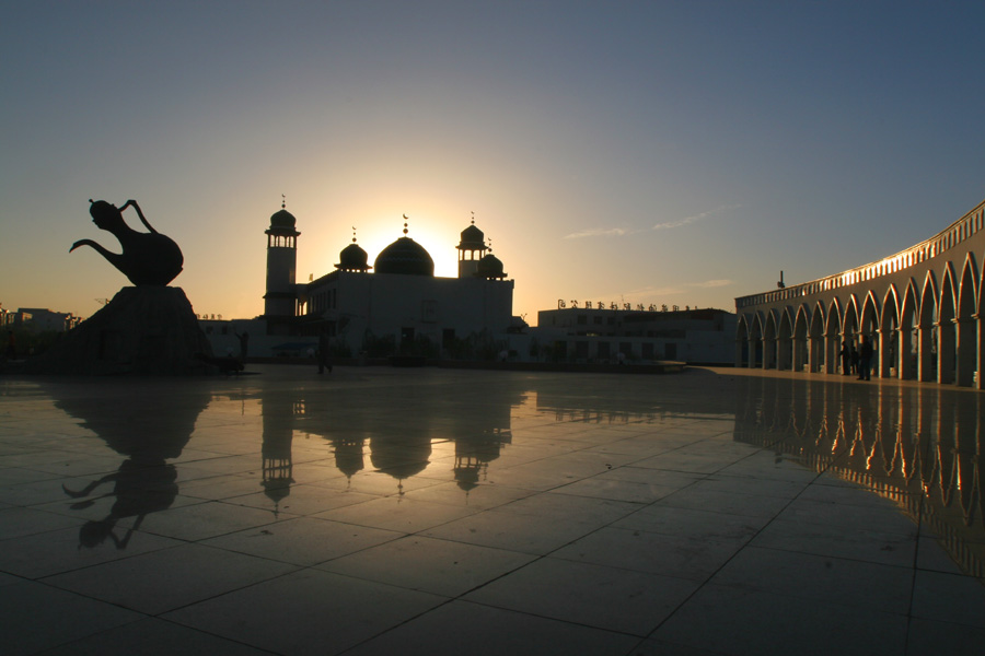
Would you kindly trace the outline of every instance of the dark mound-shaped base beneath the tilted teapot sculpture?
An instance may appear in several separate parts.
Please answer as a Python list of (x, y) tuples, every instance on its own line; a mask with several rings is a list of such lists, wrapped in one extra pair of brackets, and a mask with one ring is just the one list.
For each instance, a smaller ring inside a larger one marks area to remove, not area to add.
[(183, 375), (215, 371), (196, 358), (211, 356), (181, 288), (124, 288), (44, 355), (28, 360), (36, 374)]

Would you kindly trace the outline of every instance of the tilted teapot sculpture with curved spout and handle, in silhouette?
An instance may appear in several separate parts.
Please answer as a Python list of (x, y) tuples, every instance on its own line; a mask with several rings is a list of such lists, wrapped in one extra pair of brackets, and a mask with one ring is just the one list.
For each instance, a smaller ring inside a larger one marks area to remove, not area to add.
[[(89, 202), (92, 203), (89, 207), (92, 222), (101, 230), (113, 233), (119, 241), (123, 253), (106, 250), (92, 239), (79, 239), (72, 244), (69, 253), (79, 246), (92, 246), (136, 285), (166, 285), (182, 272), (182, 249), (148, 223), (136, 200), (128, 200), (119, 209), (105, 200), (93, 202), (90, 199)], [(137, 210), (137, 215), (150, 233), (139, 233), (124, 221), (123, 212), (130, 206)]]

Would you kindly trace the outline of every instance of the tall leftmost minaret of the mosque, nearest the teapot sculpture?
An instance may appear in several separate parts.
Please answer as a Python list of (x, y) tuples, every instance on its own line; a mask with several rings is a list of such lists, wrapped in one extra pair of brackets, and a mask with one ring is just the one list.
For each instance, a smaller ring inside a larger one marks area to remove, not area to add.
[[(281, 197), (282, 198), (282, 197)], [(294, 216), (281, 200), (280, 211), (270, 216), (267, 229), (267, 293), (264, 294), (264, 317), (267, 332), (287, 331), (287, 324), (294, 316), (297, 293), (294, 270), (298, 262), (298, 235)]]

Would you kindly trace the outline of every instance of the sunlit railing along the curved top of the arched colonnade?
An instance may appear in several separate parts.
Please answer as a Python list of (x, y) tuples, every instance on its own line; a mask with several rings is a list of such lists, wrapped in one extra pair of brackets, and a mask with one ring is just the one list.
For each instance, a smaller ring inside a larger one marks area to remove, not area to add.
[(902, 250), (879, 261), (862, 265), (861, 267), (856, 267), (855, 269), (849, 269), (826, 278), (820, 278), (781, 290), (752, 294), (750, 296), (739, 296), (735, 298), (735, 309), (742, 309), (743, 307), (752, 305), (799, 298), (810, 294), (820, 294), (850, 284), (881, 278), (882, 276), (890, 276), (937, 257), (978, 233), (983, 227), (985, 227), (985, 201), (978, 203), (975, 209), (967, 212), (964, 216), (929, 239), (920, 242), (915, 246), (911, 246), (906, 250)]

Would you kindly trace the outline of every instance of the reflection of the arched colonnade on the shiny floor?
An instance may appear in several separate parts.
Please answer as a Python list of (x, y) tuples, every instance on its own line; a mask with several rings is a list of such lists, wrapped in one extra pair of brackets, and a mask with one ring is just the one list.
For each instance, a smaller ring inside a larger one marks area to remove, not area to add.
[(842, 391), (750, 379), (749, 396), (737, 398), (735, 438), (832, 471), (923, 515), (962, 569), (983, 576), (985, 400), (925, 387)]

